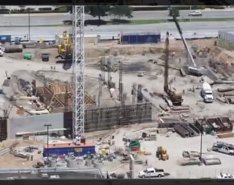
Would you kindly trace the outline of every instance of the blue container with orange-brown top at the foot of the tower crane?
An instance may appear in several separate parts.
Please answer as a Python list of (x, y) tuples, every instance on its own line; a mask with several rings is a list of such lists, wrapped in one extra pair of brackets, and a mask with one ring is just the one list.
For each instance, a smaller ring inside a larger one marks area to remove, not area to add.
[(44, 147), (43, 156), (59, 156), (74, 153), (75, 156), (84, 156), (95, 154), (95, 145), (93, 144), (50, 144)]

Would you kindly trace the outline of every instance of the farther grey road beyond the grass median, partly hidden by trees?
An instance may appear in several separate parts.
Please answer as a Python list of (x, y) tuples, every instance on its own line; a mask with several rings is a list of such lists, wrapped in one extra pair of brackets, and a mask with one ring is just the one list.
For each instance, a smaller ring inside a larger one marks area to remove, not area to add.
[[(181, 10), (180, 18), (190, 18), (188, 16), (190, 10)], [(202, 17), (193, 18), (233, 18), (234, 10), (203, 10)], [(85, 16), (87, 19), (97, 19), (90, 15)], [(110, 20), (113, 16), (102, 17), (104, 20)], [(152, 19), (168, 19), (168, 11), (135, 11), (133, 12), (132, 20), (152, 20)], [(51, 13), (51, 14), (31, 14), (31, 25), (58, 25), (62, 24), (64, 20), (71, 20), (72, 16), (69, 13)], [(28, 14), (1, 14), (0, 26), (27, 26)]]

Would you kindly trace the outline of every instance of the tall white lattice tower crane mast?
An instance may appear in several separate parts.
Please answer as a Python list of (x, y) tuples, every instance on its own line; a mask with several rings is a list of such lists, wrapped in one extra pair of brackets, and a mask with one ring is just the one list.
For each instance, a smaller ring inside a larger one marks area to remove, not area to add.
[(73, 6), (73, 119), (72, 137), (84, 136), (84, 6)]

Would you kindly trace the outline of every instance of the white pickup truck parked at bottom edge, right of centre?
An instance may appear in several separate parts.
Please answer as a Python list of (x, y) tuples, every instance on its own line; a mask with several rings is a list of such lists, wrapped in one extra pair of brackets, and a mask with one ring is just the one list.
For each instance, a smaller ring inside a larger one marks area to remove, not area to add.
[(152, 178), (152, 177), (164, 177), (166, 174), (163, 169), (147, 168), (140, 171), (138, 174), (139, 178)]

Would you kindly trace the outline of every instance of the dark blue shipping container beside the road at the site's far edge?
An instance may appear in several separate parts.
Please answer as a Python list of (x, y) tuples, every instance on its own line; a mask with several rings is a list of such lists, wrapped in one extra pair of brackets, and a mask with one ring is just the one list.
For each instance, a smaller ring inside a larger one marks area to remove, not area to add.
[(121, 44), (147, 44), (161, 41), (160, 33), (124, 33), (121, 34)]

